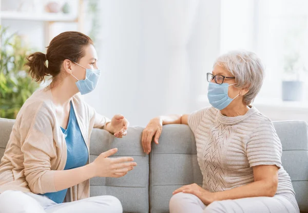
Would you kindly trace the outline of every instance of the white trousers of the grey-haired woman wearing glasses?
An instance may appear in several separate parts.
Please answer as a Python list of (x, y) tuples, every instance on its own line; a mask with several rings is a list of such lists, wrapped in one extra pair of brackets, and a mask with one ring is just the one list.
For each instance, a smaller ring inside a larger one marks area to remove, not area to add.
[(194, 194), (177, 193), (169, 203), (170, 213), (299, 213), (291, 193), (276, 194), (273, 198), (254, 197), (216, 201), (208, 206)]

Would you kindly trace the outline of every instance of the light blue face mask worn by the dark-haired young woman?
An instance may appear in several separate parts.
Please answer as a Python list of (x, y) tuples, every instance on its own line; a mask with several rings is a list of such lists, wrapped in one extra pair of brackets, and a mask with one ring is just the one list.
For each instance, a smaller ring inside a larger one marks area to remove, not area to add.
[(86, 67), (74, 62), (75, 64), (83, 67), (86, 69), (86, 79), (85, 80), (79, 80), (76, 78), (73, 74), (71, 74), (75, 79), (78, 81), (76, 82), (76, 85), (78, 87), (79, 92), (84, 95), (89, 92), (92, 92), (94, 88), (97, 86), (99, 78), (101, 76), (101, 70), (99, 69), (87, 69)]

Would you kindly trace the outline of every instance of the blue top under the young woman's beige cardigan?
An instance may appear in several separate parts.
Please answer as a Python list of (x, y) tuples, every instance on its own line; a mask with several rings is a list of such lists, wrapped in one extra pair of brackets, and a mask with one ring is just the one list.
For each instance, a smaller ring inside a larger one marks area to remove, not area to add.
[[(65, 130), (61, 127), (61, 130), (65, 136), (67, 147), (67, 160), (64, 170), (85, 166), (88, 162), (88, 149), (81, 134), (72, 102), (70, 102), (67, 129)], [(55, 203), (63, 203), (66, 192), (67, 189), (64, 189), (62, 191), (49, 192), (43, 195), (47, 196)]]

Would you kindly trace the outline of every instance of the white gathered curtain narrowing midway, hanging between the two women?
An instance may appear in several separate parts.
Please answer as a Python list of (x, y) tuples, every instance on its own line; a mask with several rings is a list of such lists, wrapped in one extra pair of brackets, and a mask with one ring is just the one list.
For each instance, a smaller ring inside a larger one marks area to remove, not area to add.
[(194, 27), (199, 0), (159, 0), (170, 48), (166, 113), (184, 113), (189, 105), (190, 74), (187, 44)]

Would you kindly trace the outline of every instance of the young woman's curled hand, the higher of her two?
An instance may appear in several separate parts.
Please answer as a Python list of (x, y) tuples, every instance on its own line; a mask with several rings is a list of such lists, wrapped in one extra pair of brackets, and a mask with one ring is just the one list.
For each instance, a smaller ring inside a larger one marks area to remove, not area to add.
[(122, 138), (127, 134), (129, 122), (123, 115), (114, 115), (111, 122), (106, 124), (106, 130), (115, 137)]

